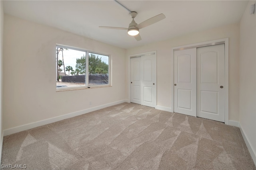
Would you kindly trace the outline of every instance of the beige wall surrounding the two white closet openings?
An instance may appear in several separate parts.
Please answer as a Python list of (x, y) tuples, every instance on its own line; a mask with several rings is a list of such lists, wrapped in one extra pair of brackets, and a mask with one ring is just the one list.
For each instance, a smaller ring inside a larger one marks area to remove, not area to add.
[[(172, 30), (170, 30), (172, 31)], [(229, 120), (239, 121), (239, 25), (232, 24), (206, 31), (190, 33), (126, 51), (129, 55), (157, 51), (157, 105), (172, 107), (171, 49), (172, 47), (229, 38)], [(128, 64), (127, 64), (128, 69)], [(128, 73), (127, 73), (128, 74)]]

